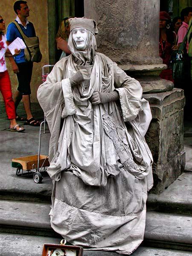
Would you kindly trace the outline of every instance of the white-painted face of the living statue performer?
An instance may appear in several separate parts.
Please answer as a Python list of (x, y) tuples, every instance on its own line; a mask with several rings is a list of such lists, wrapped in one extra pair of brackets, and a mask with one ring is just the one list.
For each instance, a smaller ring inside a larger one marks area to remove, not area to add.
[(76, 28), (72, 30), (72, 37), (78, 49), (84, 49), (87, 41), (87, 30)]

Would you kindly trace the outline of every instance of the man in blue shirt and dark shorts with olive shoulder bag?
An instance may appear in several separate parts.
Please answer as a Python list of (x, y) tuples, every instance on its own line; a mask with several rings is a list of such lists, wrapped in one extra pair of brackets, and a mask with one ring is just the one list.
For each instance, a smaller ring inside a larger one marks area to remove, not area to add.
[[(23, 105), (26, 111), (26, 125), (39, 126), (31, 113), (30, 94), (31, 94), (31, 77), (33, 62), (40, 62), (42, 55), (39, 49), (38, 37), (35, 34), (35, 28), (31, 22), (27, 20), (29, 17), (29, 7), (26, 1), (16, 1), (14, 3), (14, 11), (17, 17), (14, 22), (10, 23), (7, 28), (7, 44), (11, 44), (17, 37), (21, 38), (26, 45), (20, 54), (14, 59), (9, 58), (14, 73), (17, 75), (18, 87), (14, 95), (15, 109), (23, 99)], [(16, 114), (17, 115), (17, 114)], [(25, 121), (23, 117), (17, 115), (17, 120)]]

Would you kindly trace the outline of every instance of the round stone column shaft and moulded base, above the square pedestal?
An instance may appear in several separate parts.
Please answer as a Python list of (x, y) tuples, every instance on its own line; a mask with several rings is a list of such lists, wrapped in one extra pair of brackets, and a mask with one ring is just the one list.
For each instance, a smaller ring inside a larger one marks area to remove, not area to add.
[(159, 0), (84, 0), (84, 15), (96, 20), (98, 51), (137, 78), (143, 92), (172, 90), (159, 79), (166, 69), (159, 57)]

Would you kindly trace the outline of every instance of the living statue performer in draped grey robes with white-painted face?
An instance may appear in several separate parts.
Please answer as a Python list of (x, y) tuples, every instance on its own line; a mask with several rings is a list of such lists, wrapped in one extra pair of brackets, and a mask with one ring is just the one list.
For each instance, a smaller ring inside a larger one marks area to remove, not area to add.
[(94, 20), (70, 19), (71, 54), (38, 89), (51, 138), (51, 226), (74, 245), (130, 255), (143, 241), (152, 156), (140, 83), (96, 52)]

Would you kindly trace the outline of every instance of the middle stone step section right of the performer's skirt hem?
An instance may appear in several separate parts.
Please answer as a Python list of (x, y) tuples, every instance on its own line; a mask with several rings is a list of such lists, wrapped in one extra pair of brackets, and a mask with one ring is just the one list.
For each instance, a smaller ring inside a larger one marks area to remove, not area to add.
[(144, 244), (192, 251), (192, 216), (147, 212)]

